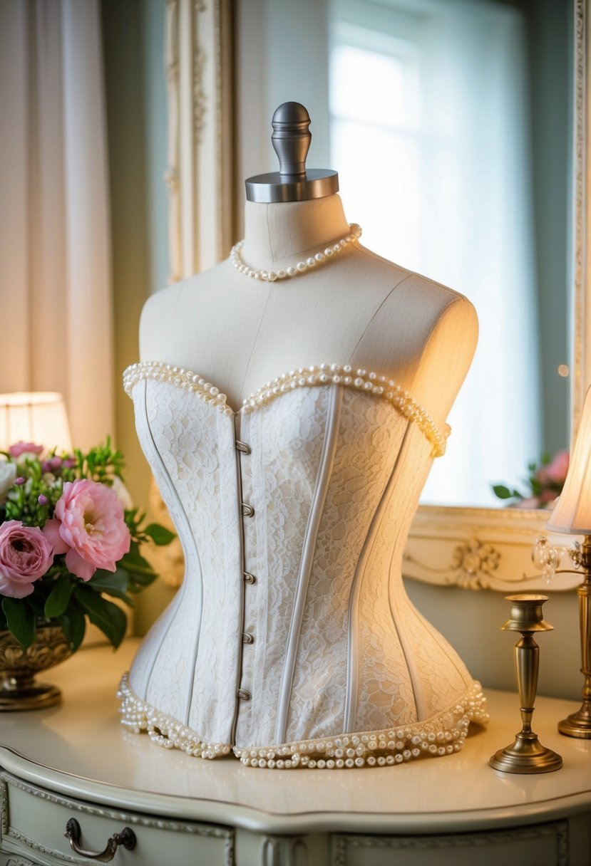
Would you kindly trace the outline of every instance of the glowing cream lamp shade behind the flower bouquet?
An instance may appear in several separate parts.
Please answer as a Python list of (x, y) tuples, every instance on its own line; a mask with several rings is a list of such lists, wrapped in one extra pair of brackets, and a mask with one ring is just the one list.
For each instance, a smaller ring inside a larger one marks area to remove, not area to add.
[(0, 394), (0, 450), (17, 442), (71, 451), (72, 441), (63, 397), (56, 391)]

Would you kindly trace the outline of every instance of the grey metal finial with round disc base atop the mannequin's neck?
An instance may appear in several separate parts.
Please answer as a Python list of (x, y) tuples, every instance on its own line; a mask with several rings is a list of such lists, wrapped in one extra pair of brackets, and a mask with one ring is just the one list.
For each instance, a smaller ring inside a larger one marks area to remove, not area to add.
[(273, 114), (271, 142), (279, 171), (258, 174), (246, 181), (249, 202), (305, 202), (339, 191), (339, 176), (330, 169), (307, 169), (312, 135), (310, 116), (299, 102), (283, 102)]

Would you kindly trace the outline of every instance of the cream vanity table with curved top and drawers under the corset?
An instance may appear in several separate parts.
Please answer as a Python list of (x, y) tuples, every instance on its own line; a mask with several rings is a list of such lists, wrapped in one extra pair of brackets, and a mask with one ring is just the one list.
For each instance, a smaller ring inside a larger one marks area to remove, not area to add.
[(591, 864), (591, 740), (556, 732), (575, 702), (538, 698), (535, 729), (558, 772), (488, 766), (519, 727), (515, 694), (486, 690), (491, 721), (445, 758), (361, 770), (257, 770), (154, 746), (119, 724), (115, 690), (138, 646), (81, 650), (49, 679), (61, 707), (0, 716), (0, 866), (92, 863), (64, 837), (105, 848), (133, 830), (115, 866)]

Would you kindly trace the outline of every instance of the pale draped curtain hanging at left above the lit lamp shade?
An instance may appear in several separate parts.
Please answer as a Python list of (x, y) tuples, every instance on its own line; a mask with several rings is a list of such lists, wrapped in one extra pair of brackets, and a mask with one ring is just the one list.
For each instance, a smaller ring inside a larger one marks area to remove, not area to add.
[(3, 0), (0, 112), (0, 391), (62, 391), (85, 449), (114, 430), (98, 0)]

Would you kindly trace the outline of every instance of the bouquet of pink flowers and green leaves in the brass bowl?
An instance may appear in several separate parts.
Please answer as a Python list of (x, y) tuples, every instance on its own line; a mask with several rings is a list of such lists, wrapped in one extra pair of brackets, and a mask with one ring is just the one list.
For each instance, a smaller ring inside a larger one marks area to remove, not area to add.
[(87, 617), (119, 646), (127, 628), (120, 598), (158, 575), (140, 555), (174, 534), (132, 507), (123, 456), (107, 444), (87, 454), (16, 443), (0, 451), (0, 630), (26, 649), (38, 624), (61, 627), (78, 649)]

